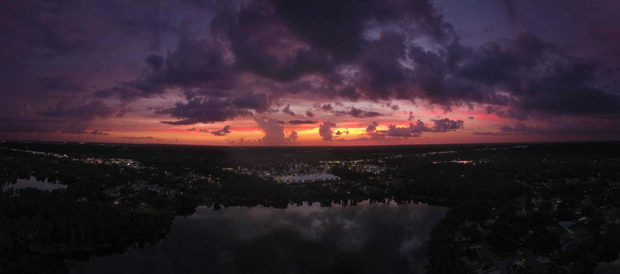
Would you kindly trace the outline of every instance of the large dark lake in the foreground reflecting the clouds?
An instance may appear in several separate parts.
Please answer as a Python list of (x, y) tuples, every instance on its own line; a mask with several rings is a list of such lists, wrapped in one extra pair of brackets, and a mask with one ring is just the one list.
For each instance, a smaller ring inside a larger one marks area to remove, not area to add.
[(425, 273), (428, 234), (448, 208), (370, 203), (198, 207), (153, 245), (71, 261), (69, 273)]

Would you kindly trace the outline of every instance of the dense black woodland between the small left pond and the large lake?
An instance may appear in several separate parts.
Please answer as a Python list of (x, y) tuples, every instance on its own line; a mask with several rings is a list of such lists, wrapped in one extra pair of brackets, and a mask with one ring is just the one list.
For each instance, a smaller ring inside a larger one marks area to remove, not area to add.
[(72, 252), (79, 257), (86, 252), (88, 257), (110, 246), (120, 252), (135, 242), (153, 241), (167, 232), (171, 222), (164, 211), (135, 213), (111, 203), (74, 200), (58, 191), (25, 188), (19, 195), (11, 194), (0, 194), (0, 268), (5, 273), (63, 272), (63, 264), (48, 265), (40, 252), (51, 252), (46, 256), (56, 259), (71, 257)]

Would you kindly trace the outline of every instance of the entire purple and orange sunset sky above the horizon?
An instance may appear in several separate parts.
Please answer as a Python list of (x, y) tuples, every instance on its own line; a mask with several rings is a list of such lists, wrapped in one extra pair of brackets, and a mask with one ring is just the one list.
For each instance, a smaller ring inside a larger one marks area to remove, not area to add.
[(620, 139), (618, 1), (2, 1), (0, 139)]

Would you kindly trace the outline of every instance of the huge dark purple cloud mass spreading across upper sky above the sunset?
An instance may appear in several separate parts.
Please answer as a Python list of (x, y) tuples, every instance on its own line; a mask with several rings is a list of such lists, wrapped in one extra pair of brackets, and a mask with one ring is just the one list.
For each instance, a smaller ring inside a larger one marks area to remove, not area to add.
[[(301, 24), (304, 18), (316, 16), (313, 11), (332, 9), (332, 14), (312, 20), (314, 24)], [(378, 35), (369, 38), (365, 33), (373, 26), (371, 22), (392, 28), (379, 28)], [(430, 38), (439, 50), (430, 51), (410, 38), (420, 35)], [(215, 39), (220, 36), (226, 43)], [(209, 38), (183, 40), (165, 58), (149, 56), (146, 62), (150, 69), (146, 76), (116, 87), (120, 91), (99, 93), (121, 93), (128, 88), (138, 90), (136, 96), (148, 97), (163, 85), (228, 89), (229, 96), (234, 96), (237, 82), (232, 79), (250, 72), (262, 77), (260, 88), (271, 89), (277, 96), (298, 92), (278, 88), (289, 83), (308, 90), (304, 77), (312, 75), (324, 86), (317, 93), (327, 98), (422, 99), (446, 112), (453, 106), (484, 104), (500, 117), (521, 121), (537, 111), (618, 114), (620, 107), (617, 94), (595, 84), (595, 72), (600, 69), (597, 61), (570, 56), (531, 32), (477, 47), (462, 45), (452, 26), (428, 1), (224, 5), (215, 10)], [(335, 69), (342, 66), (355, 73)], [(333, 111), (330, 104), (315, 108)], [(290, 105), (283, 112), (294, 115)], [(336, 114), (382, 115), (358, 108)]]

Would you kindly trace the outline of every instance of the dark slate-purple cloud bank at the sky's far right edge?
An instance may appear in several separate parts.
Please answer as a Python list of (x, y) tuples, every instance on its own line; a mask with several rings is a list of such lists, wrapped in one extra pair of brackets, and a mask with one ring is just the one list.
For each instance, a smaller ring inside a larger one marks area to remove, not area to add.
[[(533, 33), (520, 33), (506, 43), (489, 42), (477, 49), (461, 46), (465, 52), (453, 72), (480, 87), (502, 88), (503, 96), (487, 92), (472, 101), (508, 106), (498, 116), (524, 119), (529, 111), (553, 114), (618, 113), (616, 93), (596, 85), (600, 63), (570, 56), (559, 46)], [(487, 106), (487, 113), (493, 108)]]

